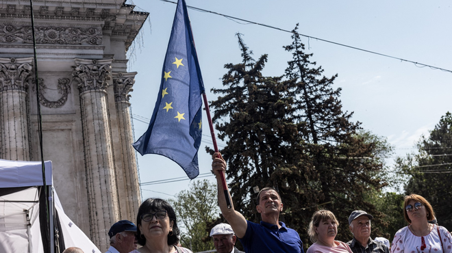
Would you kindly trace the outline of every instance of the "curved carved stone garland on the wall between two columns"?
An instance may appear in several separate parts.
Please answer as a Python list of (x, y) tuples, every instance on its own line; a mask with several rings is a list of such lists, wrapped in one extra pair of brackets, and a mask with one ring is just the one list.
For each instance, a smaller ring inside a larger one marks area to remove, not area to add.
[[(62, 94), (61, 98), (58, 101), (49, 101), (45, 98), (44, 94), (46, 92), (47, 86), (44, 83), (44, 79), (39, 78), (39, 103), (49, 108), (60, 108), (62, 107), (66, 101), (68, 100), (68, 94), (71, 93), (71, 80), (68, 78), (58, 79), (58, 93)], [(32, 83), (36, 85), (35, 79), (32, 79)], [(35, 86), (33, 86), (33, 91), (35, 91)]]

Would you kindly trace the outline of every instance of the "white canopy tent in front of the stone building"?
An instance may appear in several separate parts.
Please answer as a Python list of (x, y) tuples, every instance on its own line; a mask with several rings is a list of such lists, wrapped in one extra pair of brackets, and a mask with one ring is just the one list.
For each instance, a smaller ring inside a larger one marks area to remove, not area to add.
[[(85, 253), (101, 253), (64, 213), (58, 196), (53, 189), (51, 161), (45, 162), (45, 181), (49, 190), (50, 237), (58, 235), (56, 241), (60, 252), (68, 247), (81, 248)], [(45, 207), (40, 192), (42, 183), (42, 163), (40, 161), (7, 161), (0, 159), (0, 252), (4, 253), (58, 253), (54, 245), (44, 245), (42, 235), (45, 226)], [(43, 218), (42, 218), (43, 217)], [(47, 232), (48, 233), (48, 232)], [(45, 240), (44, 240), (45, 241)], [(44, 249), (47, 250), (44, 250)], [(49, 250), (50, 249), (50, 250)]]

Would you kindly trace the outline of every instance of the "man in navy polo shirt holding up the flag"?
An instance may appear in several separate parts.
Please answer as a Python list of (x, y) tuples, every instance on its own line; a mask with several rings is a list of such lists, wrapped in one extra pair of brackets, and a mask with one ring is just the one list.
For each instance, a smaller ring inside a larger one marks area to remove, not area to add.
[(226, 162), (218, 152), (214, 153), (212, 159), (212, 170), (218, 185), (218, 205), (223, 217), (231, 224), (236, 236), (242, 243), (244, 251), (247, 253), (304, 253), (303, 243), (301, 243), (298, 232), (288, 228), (284, 222), (279, 222), (279, 213), (283, 210), (283, 203), (277, 191), (271, 187), (262, 189), (258, 194), (258, 205), (256, 206), (262, 222), (256, 224), (247, 221), (241, 213), (234, 210), (234, 206), (231, 209), (227, 208), (221, 183), (221, 174), (225, 173)]

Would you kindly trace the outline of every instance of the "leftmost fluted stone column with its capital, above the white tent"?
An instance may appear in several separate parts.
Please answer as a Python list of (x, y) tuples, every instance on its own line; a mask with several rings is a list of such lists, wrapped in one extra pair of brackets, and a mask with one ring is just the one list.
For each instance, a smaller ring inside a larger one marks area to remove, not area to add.
[(0, 158), (29, 161), (28, 83), (33, 57), (0, 58)]

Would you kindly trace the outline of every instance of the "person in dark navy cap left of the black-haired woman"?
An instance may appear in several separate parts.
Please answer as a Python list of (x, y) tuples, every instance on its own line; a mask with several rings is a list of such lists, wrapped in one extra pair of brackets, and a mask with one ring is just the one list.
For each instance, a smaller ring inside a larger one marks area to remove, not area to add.
[(135, 237), (136, 226), (127, 219), (113, 224), (108, 231), (110, 236), (110, 248), (105, 253), (129, 253), (138, 247)]

